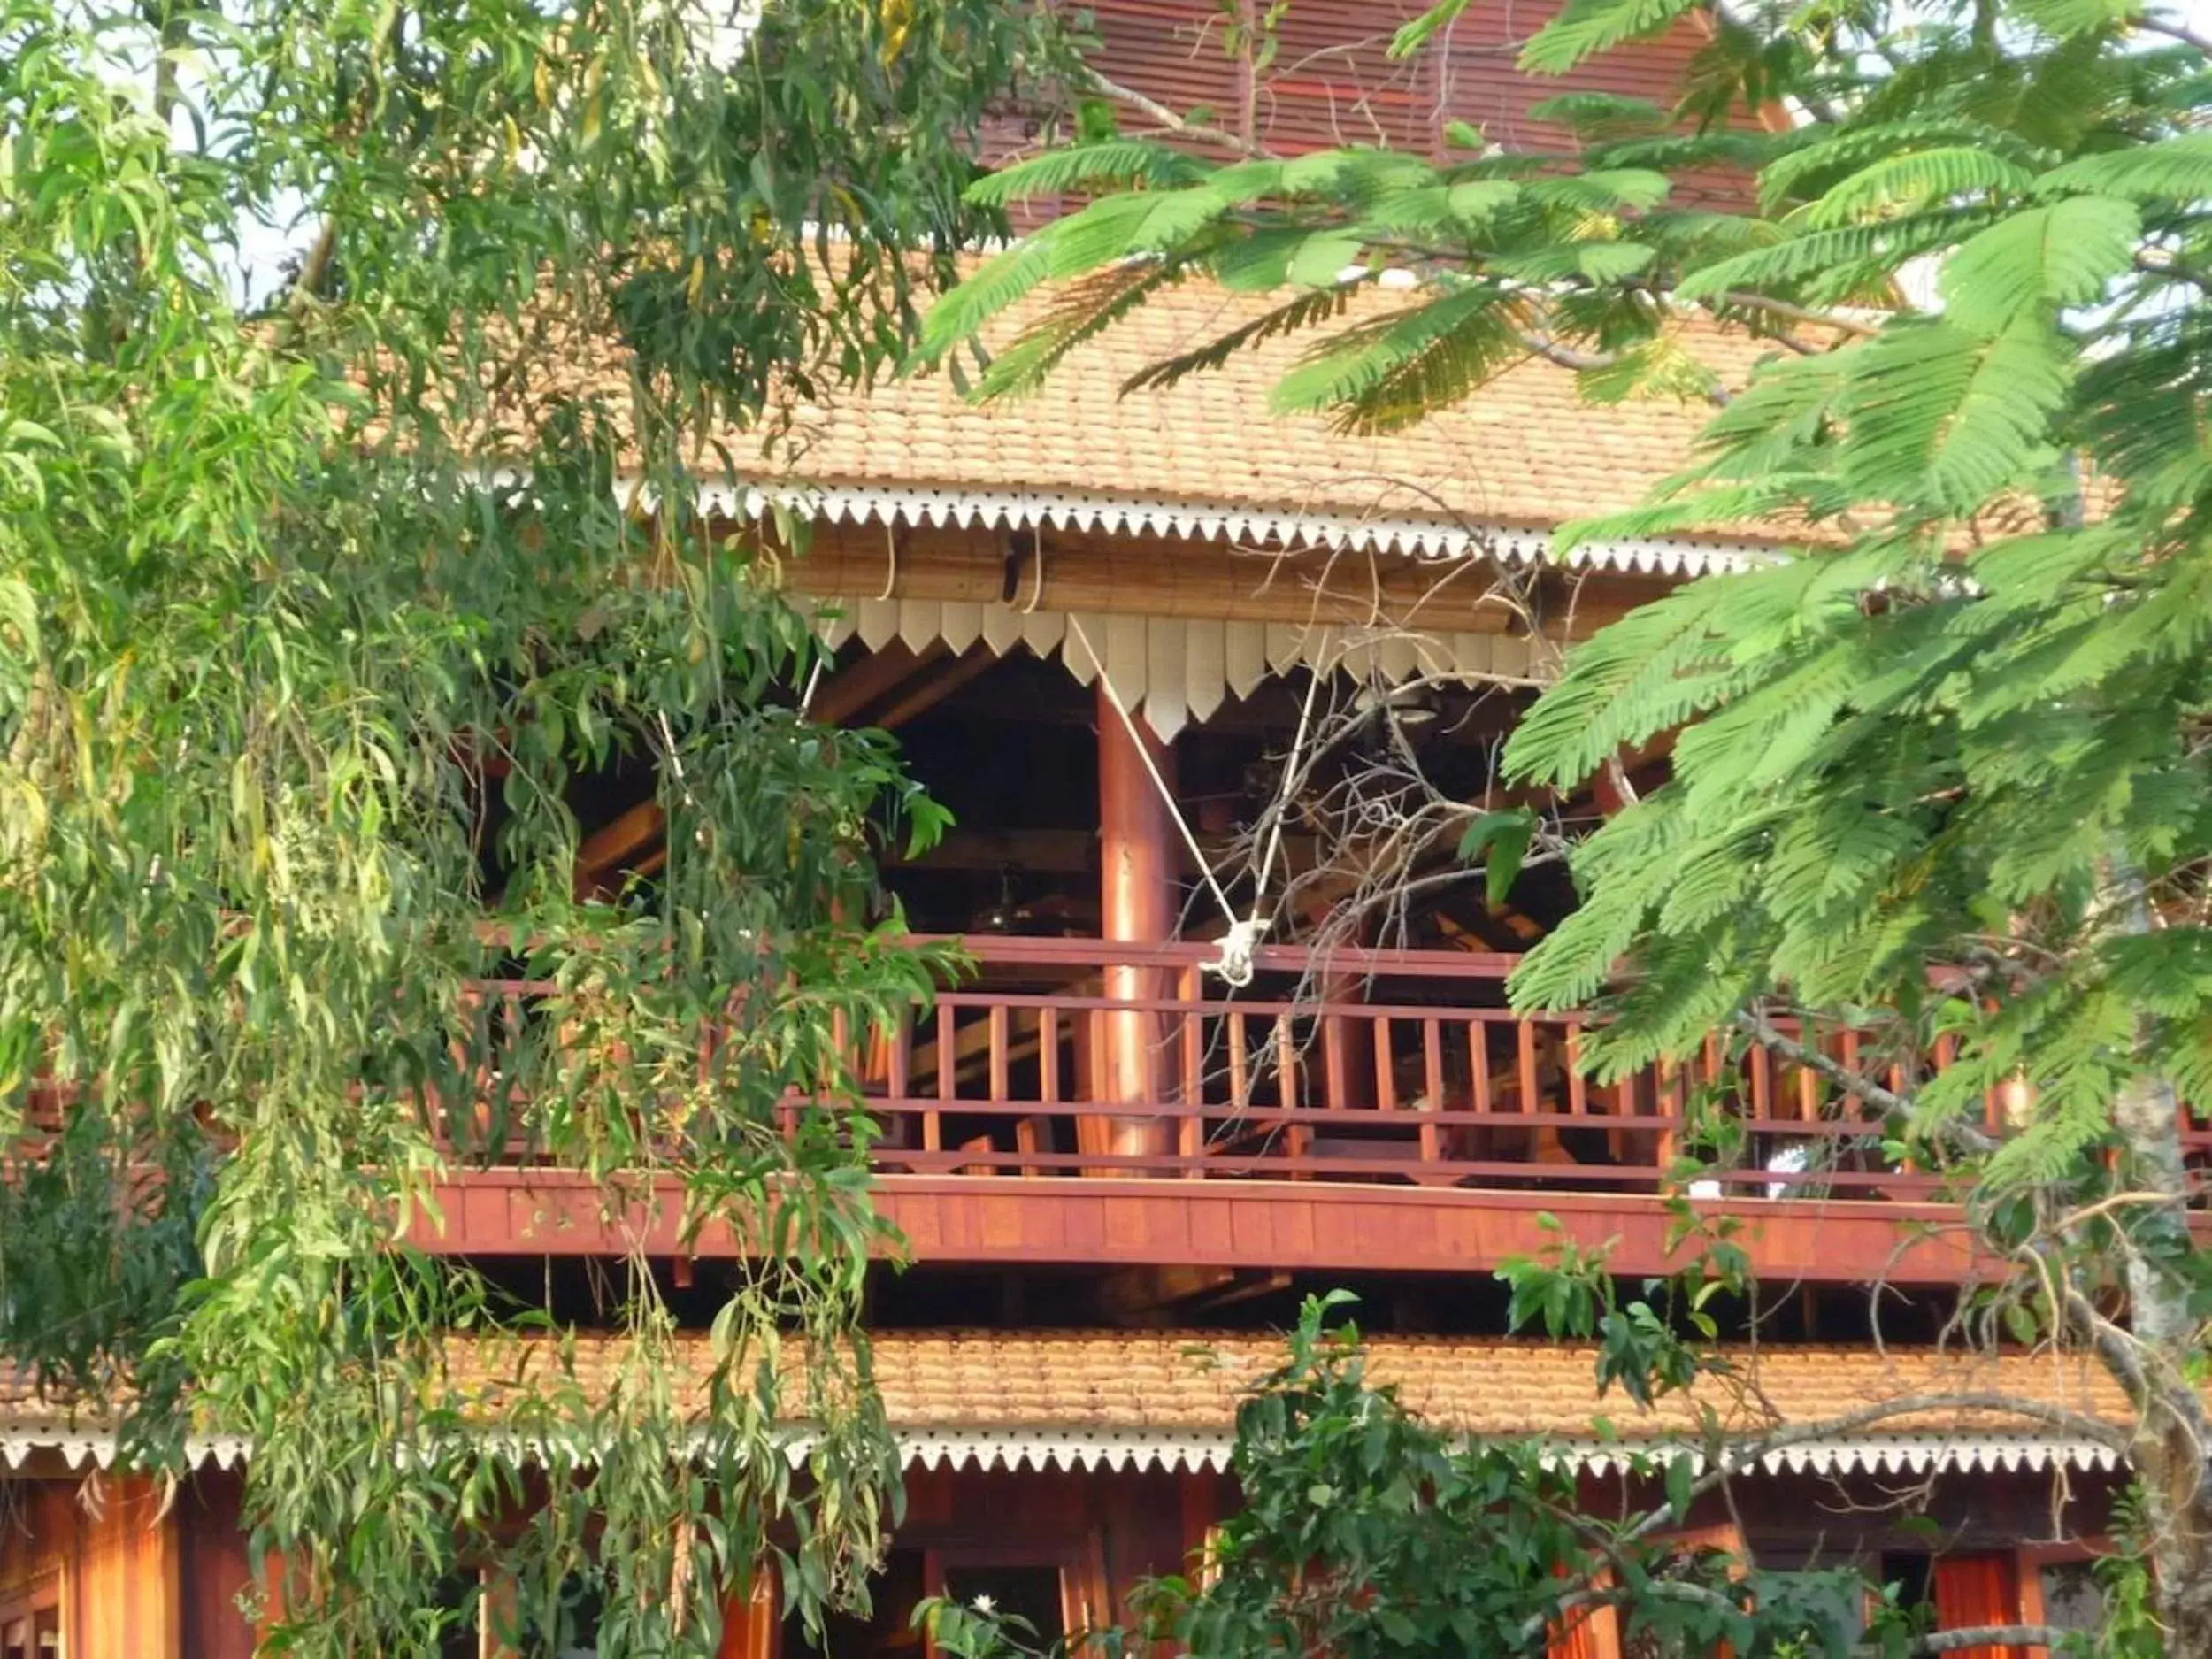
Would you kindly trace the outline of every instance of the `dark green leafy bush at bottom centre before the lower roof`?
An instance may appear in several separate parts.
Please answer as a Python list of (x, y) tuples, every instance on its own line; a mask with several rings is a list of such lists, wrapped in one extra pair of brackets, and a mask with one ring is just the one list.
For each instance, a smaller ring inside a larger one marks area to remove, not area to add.
[[(1239, 1407), (1243, 1509), (1203, 1573), (1152, 1582), (1137, 1630), (1084, 1632), (1068, 1652), (1172, 1641), (1221, 1659), (1533, 1659), (1601, 1606), (1621, 1608), (1637, 1652), (1858, 1650), (1867, 1584), (1856, 1571), (1765, 1573), (1668, 1542), (1712, 1486), (1688, 1453), (1628, 1458), (1657, 1504), (1590, 1515), (1573, 1464), (1546, 1447), (1467, 1444), (1411, 1416), (1367, 1376), (1358, 1332), (1336, 1323), (1345, 1301), (1307, 1298), (1283, 1365)], [(920, 1617), (964, 1659), (1035, 1655), (1033, 1632), (989, 1608), (936, 1601)]]

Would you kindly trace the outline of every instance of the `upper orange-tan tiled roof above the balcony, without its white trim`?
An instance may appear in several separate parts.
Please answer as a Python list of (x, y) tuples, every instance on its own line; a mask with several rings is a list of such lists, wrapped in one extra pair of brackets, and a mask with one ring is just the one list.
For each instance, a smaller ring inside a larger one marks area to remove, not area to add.
[[(1413, 299), (1369, 292), (1352, 314)], [(1531, 358), (1407, 431), (1345, 436), (1316, 416), (1267, 411), (1270, 389), (1316, 334), (1279, 336), (1237, 352), (1217, 372), (1124, 396), (1124, 383), (1139, 369), (1281, 301), (1281, 294), (1183, 283), (1077, 347), (1040, 392), (1015, 400), (975, 405), (949, 374), (936, 372), (799, 405), (796, 451), (774, 462), (763, 458), (757, 478), (947, 495), (1068, 493), (1352, 524), (1473, 520), (1551, 529), (1637, 504), (1690, 462), (1712, 414), (1703, 403), (1677, 398), (1590, 405), (1568, 369)], [(1044, 303), (1033, 296), (995, 334), (1009, 336)], [(1730, 383), (1778, 349), (1703, 325), (1692, 330), (1692, 343)], [(619, 369), (604, 363), (595, 389), (622, 400)], [(726, 434), (726, 442), (750, 473), (757, 440)], [(1721, 540), (1774, 542), (1781, 533), (1732, 529)]]

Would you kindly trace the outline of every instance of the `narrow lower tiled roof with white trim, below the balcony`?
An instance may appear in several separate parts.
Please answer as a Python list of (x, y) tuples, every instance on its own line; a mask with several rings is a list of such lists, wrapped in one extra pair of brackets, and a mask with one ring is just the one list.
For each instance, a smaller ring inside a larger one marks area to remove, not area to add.
[[(1283, 1358), (1279, 1340), (1250, 1334), (1146, 1332), (891, 1332), (874, 1343), (885, 1409), (909, 1464), (984, 1469), (1223, 1469), (1237, 1405)], [(1473, 1436), (1535, 1436), (1604, 1473), (1624, 1451), (1703, 1444), (1710, 1409), (1730, 1436), (1796, 1429), (1763, 1453), (1770, 1471), (2112, 1469), (2110, 1436), (2022, 1411), (1922, 1409), (1838, 1425), (1874, 1405), (1947, 1394), (2004, 1396), (2126, 1429), (2121, 1391), (2079, 1360), (1964, 1356), (1924, 1349), (1801, 1347), (1736, 1354), (1732, 1378), (1708, 1378), (1641, 1411), (1595, 1389), (1595, 1352), (1471, 1338), (1383, 1336), (1367, 1345), (1369, 1376), (1396, 1385), (1429, 1422)], [(484, 1398), (546, 1365), (544, 1343), (469, 1343), (453, 1349), (453, 1383)], [(577, 1380), (593, 1398), (622, 1387), (626, 1349), (586, 1336)], [(677, 1405), (703, 1409), (703, 1338), (679, 1338)], [(805, 1425), (794, 1422), (794, 1449)], [(106, 1467), (113, 1427), (91, 1411), (0, 1389), (0, 1469), (58, 1453)], [(237, 1436), (188, 1440), (188, 1455), (230, 1467), (252, 1455)]]

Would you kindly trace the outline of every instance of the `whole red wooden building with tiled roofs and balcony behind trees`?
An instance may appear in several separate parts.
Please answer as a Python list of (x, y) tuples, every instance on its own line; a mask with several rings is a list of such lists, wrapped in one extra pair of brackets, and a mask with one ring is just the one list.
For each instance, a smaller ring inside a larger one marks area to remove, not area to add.
[[(1535, 142), (1526, 111), (1557, 91), (1511, 73), (1533, 24), (1502, 0), (1478, 0), (1413, 84), (1380, 51), (1389, 27), (1376, 33), (1374, 11), (1394, 24), (1396, 4), (1301, 0), (1285, 62), (1303, 66), (1265, 100), (1194, 42), (1206, 0), (1095, 9), (1119, 80), (1292, 146), (1433, 144), (1447, 111)], [(1666, 97), (1697, 44), (1679, 35), (1590, 73)], [(911, 1250), (872, 1314), (909, 1509), (880, 1613), (836, 1632), (841, 1659), (916, 1648), (907, 1613), (925, 1593), (989, 1590), (1053, 1635), (1119, 1617), (1139, 1577), (1179, 1571), (1234, 1502), (1239, 1389), (1310, 1290), (1360, 1294), (1376, 1369), (1420, 1411), (1551, 1436), (1593, 1502), (1617, 1493), (1590, 1354), (1506, 1340), (1491, 1274), (1548, 1243), (1544, 1217), (1584, 1245), (1617, 1241), (1621, 1274), (1663, 1270), (1666, 1172), (1697, 1082), (1721, 1088), (1752, 1148), (1697, 1201), (1743, 1221), (1770, 1290), (1745, 1365), (1774, 1416), (1818, 1422), (1931, 1387), (2124, 1416), (2108, 1385), (2048, 1360), (1931, 1347), (1973, 1261), (1924, 1177), (1869, 1152), (1805, 1157), (1869, 1128), (1823, 1079), (1756, 1051), (1723, 1064), (1714, 1046), (1703, 1071), (1599, 1086), (1575, 1071), (1575, 1020), (1517, 1020), (1515, 953), (1573, 902), (1557, 867), (1493, 909), (1480, 880), (1451, 878), (1447, 836), (1413, 860), (1436, 876), (1416, 898), (1343, 914), (1367, 845), (1347, 812), (1383, 787), (1358, 783), (1360, 765), (1413, 757), (1460, 803), (1509, 801), (1500, 739), (1562, 644), (1774, 549), (1604, 542), (1548, 562), (1562, 520), (1681, 467), (1703, 411), (1582, 405), (1544, 363), (1387, 438), (1265, 414), (1296, 341), (1121, 394), (1254, 305), (1172, 290), (1002, 407), (922, 378), (803, 411), (792, 469), (717, 498), (732, 520), (770, 498), (812, 515), (790, 580), (823, 608), (836, 661), (810, 712), (896, 732), (951, 807), (945, 843), (889, 880), (916, 929), (960, 938), (978, 964), (869, 1066), (876, 1197)], [(1761, 349), (1708, 345), (1734, 372)], [(1314, 801), (1292, 812), (1285, 757), (1301, 721), (1312, 741), (1316, 706), (1340, 757), (1312, 768)], [(653, 858), (650, 781), (602, 805), (586, 883)], [(1548, 805), (1588, 818), (1610, 801)], [(1281, 834), (1254, 836), (1270, 807)], [(1230, 918), (1254, 909), (1274, 925), (1250, 975), (1219, 973)], [(529, 1168), (456, 1175), (422, 1241), (526, 1272), (626, 1248), (591, 1192)], [(677, 1305), (697, 1279), (712, 1307), (714, 1254), (732, 1248), (708, 1237), (670, 1261)], [(1701, 1398), (1750, 1422), (1745, 1398)], [(1608, 1400), (1606, 1416), (1630, 1442), (1694, 1429), (1679, 1400)], [(113, 1442), (95, 1427), (0, 1407), (0, 1659), (250, 1652), (232, 1601), (250, 1449), (201, 1451), (164, 1500), (102, 1473)], [(2101, 1444), (1922, 1416), (1805, 1440), (1739, 1484), (1734, 1515), (1694, 1520), (1767, 1566), (1902, 1577), (1942, 1624), (2066, 1619), (2093, 1617), (2084, 1562), (2115, 1486)], [(726, 1652), (799, 1650), (772, 1606), (737, 1610)], [(1621, 1641), (1593, 1621), (1557, 1650), (1617, 1659)]]

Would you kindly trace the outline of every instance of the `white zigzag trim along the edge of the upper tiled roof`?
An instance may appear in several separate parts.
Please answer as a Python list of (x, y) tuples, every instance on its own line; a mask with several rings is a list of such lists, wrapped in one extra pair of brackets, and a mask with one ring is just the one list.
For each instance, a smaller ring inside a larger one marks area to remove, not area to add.
[[(637, 484), (624, 484), (624, 500)], [(1327, 546), (1356, 553), (1405, 553), (1422, 560), (1493, 557), (1537, 564), (1551, 557), (1551, 531), (1473, 520), (1380, 518), (1329, 511), (1172, 502), (1141, 495), (1084, 491), (995, 491), (887, 484), (703, 484), (699, 507), (721, 518), (761, 518), (774, 507), (832, 524), (956, 524), (962, 529), (1053, 529), (1155, 533), (1188, 540), (1234, 540), (1272, 546)], [(1750, 544), (1714, 544), (1655, 535), (1584, 542), (1566, 555), (1568, 568), (1692, 577), (1712, 571), (1750, 571), (1778, 553)]]

